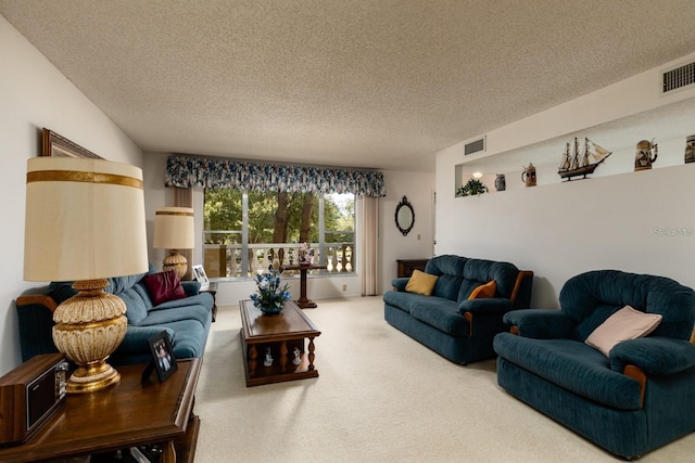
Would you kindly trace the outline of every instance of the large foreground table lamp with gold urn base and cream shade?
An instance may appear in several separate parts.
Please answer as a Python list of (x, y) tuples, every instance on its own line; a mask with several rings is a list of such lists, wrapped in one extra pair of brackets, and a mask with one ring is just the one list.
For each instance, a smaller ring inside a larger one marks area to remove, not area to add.
[(94, 393), (121, 375), (106, 359), (123, 340), (124, 301), (111, 276), (148, 271), (142, 171), (103, 159), (28, 159), (24, 280), (75, 281), (53, 312), (53, 343), (77, 370), (67, 391)]

